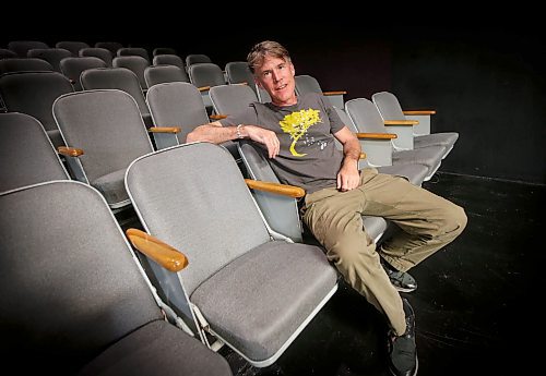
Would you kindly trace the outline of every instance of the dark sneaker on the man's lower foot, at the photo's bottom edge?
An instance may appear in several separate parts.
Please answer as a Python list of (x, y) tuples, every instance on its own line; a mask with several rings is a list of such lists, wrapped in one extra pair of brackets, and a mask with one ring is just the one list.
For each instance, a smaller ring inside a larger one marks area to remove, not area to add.
[(402, 299), (406, 315), (406, 331), (402, 336), (389, 333), (389, 369), (394, 376), (417, 375), (417, 347), (415, 344), (415, 314), (410, 302)]

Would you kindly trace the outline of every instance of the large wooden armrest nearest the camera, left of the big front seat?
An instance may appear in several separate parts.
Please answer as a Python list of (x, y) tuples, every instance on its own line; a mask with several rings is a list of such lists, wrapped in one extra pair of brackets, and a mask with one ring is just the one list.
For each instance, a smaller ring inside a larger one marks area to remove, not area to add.
[(170, 271), (180, 271), (188, 266), (188, 258), (180, 251), (159, 241), (157, 238), (136, 229), (128, 229), (127, 238), (131, 244)]

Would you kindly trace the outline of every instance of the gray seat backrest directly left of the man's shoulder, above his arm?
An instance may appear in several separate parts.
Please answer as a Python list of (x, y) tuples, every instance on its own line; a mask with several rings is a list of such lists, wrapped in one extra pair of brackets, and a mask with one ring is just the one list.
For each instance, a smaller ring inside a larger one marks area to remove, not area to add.
[(241, 112), (252, 102), (258, 101), (258, 96), (248, 85), (218, 85), (209, 92), (214, 111), (221, 114), (235, 114)]

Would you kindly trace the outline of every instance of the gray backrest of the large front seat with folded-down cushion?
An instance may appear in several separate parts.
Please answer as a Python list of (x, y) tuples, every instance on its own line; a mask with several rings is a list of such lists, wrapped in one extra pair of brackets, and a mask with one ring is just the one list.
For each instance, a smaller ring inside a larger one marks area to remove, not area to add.
[(185, 250), (193, 265), (182, 277), (189, 295), (270, 241), (237, 163), (221, 146), (183, 144), (139, 158), (127, 170), (126, 187), (146, 231)]

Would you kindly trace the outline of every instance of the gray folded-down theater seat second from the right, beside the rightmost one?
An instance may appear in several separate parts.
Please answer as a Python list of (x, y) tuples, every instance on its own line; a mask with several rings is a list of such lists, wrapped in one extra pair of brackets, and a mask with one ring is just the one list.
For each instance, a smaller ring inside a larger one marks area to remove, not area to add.
[[(389, 134), (390, 132), (396, 133), (393, 125), (390, 125), (389, 128), (384, 125), (383, 119), (381, 119), (377, 107), (366, 98), (347, 100), (345, 102), (345, 111), (358, 132), (379, 134)], [(397, 133), (397, 137), (392, 138), (391, 142), (399, 140), (401, 136), (406, 138), (413, 137), (411, 126), (401, 125), (401, 128), (402, 133)], [(369, 147), (373, 146), (369, 145)], [(394, 148), (391, 155), (391, 165), (424, 165), (428, 168), (425, 180), (429, 180), (440, 167), (444, 151), (446, 148), (442, 146), (429, 146), (410, 150), (400, 150)], [(370, 160), (373, 163), (371, 157)], [(384, 166), (382, 162), (378, 165)]]

